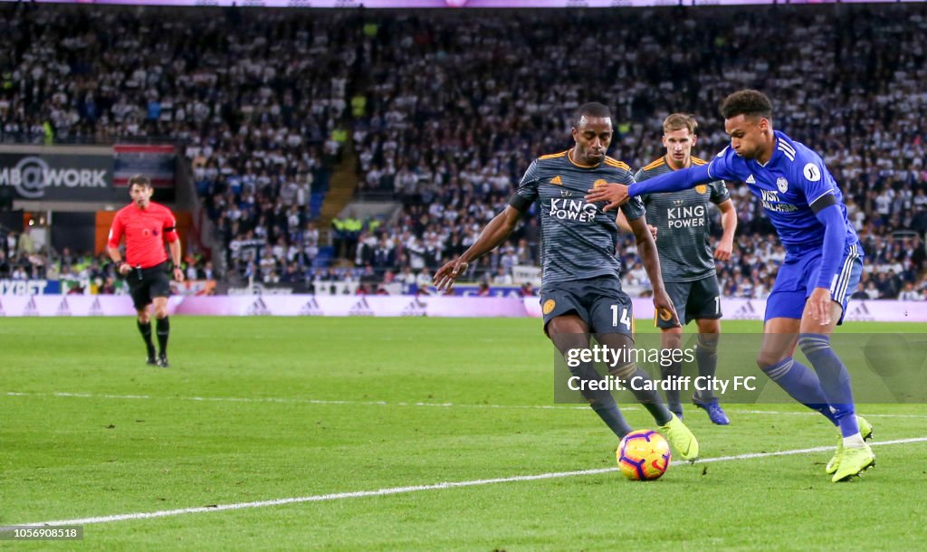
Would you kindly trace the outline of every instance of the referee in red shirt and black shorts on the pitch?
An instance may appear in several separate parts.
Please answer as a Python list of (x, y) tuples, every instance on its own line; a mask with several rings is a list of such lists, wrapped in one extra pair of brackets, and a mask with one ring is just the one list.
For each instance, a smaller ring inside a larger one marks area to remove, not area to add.
[[(171, 321), (168, 320), (168, 295), (171, 282), (168, 280), (168, 256), (164, 242), (168, 243), (173, 261), (173, 278), (184, 282), (184, 271), (180, 268), (180, 238), (171, 209), (151, 201), (151, 181), (141, 175), (129, 179), (129, 194), (132, 203), (122, 207), (109, 228), (107, 251), (116, 263), (116, 270), (126, 277), (135, 310), (138, 311), (138, 331), (142, 333), (148, 349), (147, 362), (161, 368), (168, 368), (168, 335)], [(119, 243), (125, 235), (125, 259), (119, 250)], [(151, 312), (155, 306), (155, 320), (158, 332), (158, 358), (155, 345), (151, 343)]]

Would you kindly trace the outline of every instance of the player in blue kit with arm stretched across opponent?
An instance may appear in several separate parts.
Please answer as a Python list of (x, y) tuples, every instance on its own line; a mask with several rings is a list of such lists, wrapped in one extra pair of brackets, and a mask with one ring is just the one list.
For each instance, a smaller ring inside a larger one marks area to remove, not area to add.
[[(721, 104), (730, 145), (707, 165), (647, 182), (609, 183), (586, 200), (616, 208), (641, 194), (675, 192), (717, 180), (744, 182), (762, 201), (786, 248), (767, 299), (763, 344), (756, 362), (769, 378), (840, 430), (825, 469), (834, 483), (875, 465), (866, 444), (870, 423), (856, 415), (850, 376), (831, 348), (830, 335), (862, 273), (862, 247), (846, 220), (843, 194), (814, 151), (772, 128), (772, 103), (756, 90), (730, 94)], [(798, 345), (814, 370), (792, 357)]]

